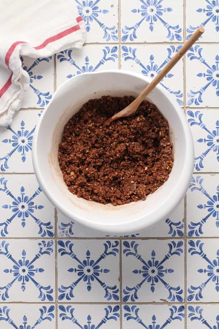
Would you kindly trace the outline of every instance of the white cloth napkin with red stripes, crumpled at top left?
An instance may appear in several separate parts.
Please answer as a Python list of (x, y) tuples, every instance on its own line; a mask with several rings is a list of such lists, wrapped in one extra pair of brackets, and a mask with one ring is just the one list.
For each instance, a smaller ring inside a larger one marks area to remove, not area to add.
[(81, 48), (85, 23), (74, 0), (1, 0), (0, 22), (0, 126), (7, 126), (30, 82), (20, 56)]

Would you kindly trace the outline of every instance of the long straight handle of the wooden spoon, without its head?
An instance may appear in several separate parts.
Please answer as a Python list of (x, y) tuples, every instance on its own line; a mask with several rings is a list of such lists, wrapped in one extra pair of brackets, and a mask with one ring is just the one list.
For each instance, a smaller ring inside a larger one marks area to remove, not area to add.
[[(149, 83), (149, 85), (141, 92), (141, 94), (136, 98), (136, 101), (139, 100), (139, 105), (145, 96), (147, 96), (161, 80), (166, 76), (166, 74), (176, 65), (177, 62), (186, 54), (186, 52), (191, 48), (191, 46), (197, 41), (198, 38), (205, 32), (203, 27), (199, 27), (191, 38), (186, 41), (183, 47), (176, 53), (176, 55), (167, 63), (163, 70)], [(138, 103), (138, 101), (137, 101)]]

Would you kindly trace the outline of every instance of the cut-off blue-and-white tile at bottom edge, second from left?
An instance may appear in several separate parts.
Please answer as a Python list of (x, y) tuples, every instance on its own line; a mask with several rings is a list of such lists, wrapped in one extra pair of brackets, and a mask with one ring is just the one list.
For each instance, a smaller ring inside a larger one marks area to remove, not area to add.
[(120, 306), (104, 304), (58, 305), (58, 329), (120, 329)]

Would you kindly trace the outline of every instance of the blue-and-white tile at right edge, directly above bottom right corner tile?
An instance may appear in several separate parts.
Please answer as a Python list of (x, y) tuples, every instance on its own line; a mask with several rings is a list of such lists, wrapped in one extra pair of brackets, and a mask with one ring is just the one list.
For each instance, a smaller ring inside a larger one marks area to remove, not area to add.
[(219, 302), (218, 240), (187, 240), (187, 301)]

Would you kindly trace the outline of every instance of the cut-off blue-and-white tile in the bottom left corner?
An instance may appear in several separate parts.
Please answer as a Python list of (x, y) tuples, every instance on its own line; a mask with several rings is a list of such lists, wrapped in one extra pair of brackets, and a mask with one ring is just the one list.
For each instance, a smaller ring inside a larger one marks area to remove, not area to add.
[(54, 329), (55, 306), (39, 304), (1, 304), (1, 329)]

